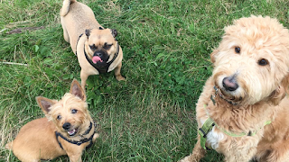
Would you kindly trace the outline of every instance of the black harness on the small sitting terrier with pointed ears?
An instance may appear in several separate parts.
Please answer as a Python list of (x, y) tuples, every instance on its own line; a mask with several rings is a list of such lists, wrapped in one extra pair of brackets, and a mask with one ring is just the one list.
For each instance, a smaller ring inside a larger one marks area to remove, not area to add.
[[(89, 130), (86, 130), (86, 131), (84, 132), (84, 134), (79, 135), (79, 136), (83, 137), (84, 135), (89, 134), (89, 132), (90, 132), (91, 129), (92, 129), (92, 122), (90, 121)], [(88, 149), (88, 148), (90, 148), (90, 147), (92, 146), (92, 138), (93, 138), (94, 134), (95, 134), (95, 133), (92, 133), (92, 135), (89, 137), (89, 139), (88, 139), (88, 138), (84, 138), (84, 139), (80, 139), (79, 141), (76, 141), (76, 140), (67, 139), (67, 138), (65, 138), (60, 132), (55, 131), (56, 140), (57, 140), (58, 143), (60, 144), (60, 147), (61, 147), (61, 148), (62, 148), (62, 145), (61, 145), (60, 140), (58, 139), (59, 136), (60, 136), (62, 139), (65, 139), (66, 141), (68, 141), (68, 142), (70, 142), (70, 143), (72, 143), (72, 144), (78, 145), (78, 146), (80, 146), (82, 143), (86, 143), (86, 142), (90, 141), (89, 146), (87, 146), (87, 149)], [(63, 149), (63, 148), (62, 148), (62, 149)]]

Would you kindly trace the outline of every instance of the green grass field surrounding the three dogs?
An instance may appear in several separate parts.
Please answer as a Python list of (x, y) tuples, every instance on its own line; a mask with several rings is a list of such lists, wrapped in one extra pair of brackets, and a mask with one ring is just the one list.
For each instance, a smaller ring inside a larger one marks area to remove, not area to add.
[[(83, 161), (177, 161), (189, 155), (197, 135), (195, 103), (223, 28), (251, 14), (275, 17), (289, 28), (286, 0), (81, 2), (98, 23), (117, 29), (126, 76), (121, 82), (113, 73), (89, 76), (89, 111), (100, 138)], [(60, 99), (73, 78), (80, 81), (77, 58), (62, 35), (61, 4), (0, 1), (0, 161), (17, 161), (5, 143), (44, 116), (35, 97)], [(211, 151), (202, 161), (221, 159)]]

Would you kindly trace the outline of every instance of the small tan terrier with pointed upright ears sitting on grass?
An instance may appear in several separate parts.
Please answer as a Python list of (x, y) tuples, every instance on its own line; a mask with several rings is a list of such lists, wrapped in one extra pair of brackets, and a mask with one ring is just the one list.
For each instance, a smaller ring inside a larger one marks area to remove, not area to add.
[(25, 124), (5, 148), (12, 149), (15, 157), (23, 162), (62, 155), (68, 155), (71, 162), (82, 161), (83, 150), (98, 138), (85, 100), (86, 95), (77, 80), (72, 81), (70, 93), (60, 101), (36, 97), (46, 117)]

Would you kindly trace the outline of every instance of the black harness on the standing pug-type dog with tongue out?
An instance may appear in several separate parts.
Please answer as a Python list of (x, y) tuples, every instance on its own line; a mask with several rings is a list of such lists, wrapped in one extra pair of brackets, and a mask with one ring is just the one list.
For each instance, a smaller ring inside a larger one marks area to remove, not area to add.
[(95, 67), (98, 70), (99, 74), (103, 74), (103, 73), (107, 73), (108, 67), (111, 65), (111, 63), (113, 63), (116, 60), (116, 58), (118, 56), (118, 52), (119, 52), (119, 44), (117, 42), (117, 52), (116, 52), (114, 58), (112, 58), (109, 62), (104, 62), (104, 63), (99, 63), (99, 64), (98, 63), (94, 64), (92, 62), (92, 60), (89, 58), (87, 52), (85, 51), (85, 47), (84, 47), (83, 51), (84, 51), (85, 58), (87, 58), (87, 60), (89, 61), (89, 64), (92, 67)]

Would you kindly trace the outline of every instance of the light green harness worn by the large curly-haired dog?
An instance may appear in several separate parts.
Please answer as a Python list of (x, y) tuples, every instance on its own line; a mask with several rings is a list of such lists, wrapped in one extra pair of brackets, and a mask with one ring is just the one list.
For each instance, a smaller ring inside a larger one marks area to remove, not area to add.
[[(204, 108), (205, 108), (205, 111), (207, 112), (207, 104), (204, 104)], [(207, 112), (208, 114), (208, 112)], [(209, 114), (208, 114), (209, 116)], [(266, 121), (264, 126), (270, 124), (271, 121)], [(206, 147), (206, 140), (207, 140), (207, 134), (210, 132), (210, 130), (213, 129), (213, 127), (216, 126), (219, 130), (221, 130), (223, 133), (227, 134), (228, 136), (231, 136), (231, 137), (244, 137), (244, 136), (254, 136), (256, 135), (256, 132), (258, 130), (255, 130), (254, 132), (252, 132), (251, 130), (249, 130), (248, 132), (241, 132), (241, 133), (234, 133), (234, 132), (231, 132), (231, 131), (228, 131), (228, 130), (224, 130), (222, 128), (220, 128), (216, 123), (215, 121), (213, 121), (210, 117), (204, 122), (204, 124), (201, 126), (201, 128), (199, 128), (198, 130), (198, 133), (200, 134), (200, 146), (204, 149), (208, 149), (210, 150), (210, 148), (207, 148)], [(262, 129), (262, 128), (260, 128)]]

